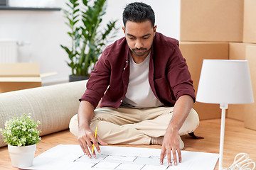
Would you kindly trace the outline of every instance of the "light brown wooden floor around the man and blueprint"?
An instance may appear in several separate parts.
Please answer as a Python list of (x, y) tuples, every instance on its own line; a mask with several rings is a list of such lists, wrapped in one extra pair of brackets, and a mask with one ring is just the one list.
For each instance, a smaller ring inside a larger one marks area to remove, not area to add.
[[(184, 150), (196, 152), (219, 152), (220, 139), (220, 119), (202, 120), (196, 135), (204, 137), (203, 140), (193, 140), (188, 135), (181, 137), (185, 143)], [(37, 144), (36, 156), (45, 152), (51, 147), (59, 144), (75, 144), (78, 145), (76, 138), (70, 134), (68, 130), (57, 132), (42, 137), (40, 143)], [(225, 144), (223, 167), (227, 168), (233, 163), (236, 154), (245, 152), (250, 158), (256, 162), (256, 131), (243, 128), (243, 123), (237, 120), (226, 119), (225, 123)], [(122, 145), (124, 146), (124, 145)], [(153, 147), (161, 148), (159, 145), (136, 145), (132, 147)], [(0, 169), (17, 169), (11, 166), (9, 152), (7, 147), (0, 148)], [(215, 166), (218, 169), (218, 164)]]

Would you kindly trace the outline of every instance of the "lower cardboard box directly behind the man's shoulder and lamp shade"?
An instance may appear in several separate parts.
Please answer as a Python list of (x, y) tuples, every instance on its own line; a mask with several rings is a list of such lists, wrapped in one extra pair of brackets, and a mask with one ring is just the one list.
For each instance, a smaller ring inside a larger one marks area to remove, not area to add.
[[(188, 69), (193, 79), (195, 91), (201, 74), (204, 59), (228, 60), (228, 42), (181, 42), (180, 49), (186, 59)], [(200, 120), (220, 118), (219, 104), (194, 103), (193, 108), (197, 111)]]

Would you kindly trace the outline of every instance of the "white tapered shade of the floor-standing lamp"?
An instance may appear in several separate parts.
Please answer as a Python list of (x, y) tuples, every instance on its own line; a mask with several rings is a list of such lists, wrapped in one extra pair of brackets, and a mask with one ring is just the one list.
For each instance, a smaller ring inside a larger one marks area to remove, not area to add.
[(196, 101), (202, 103), (253, 103), (246, 60), (203, 60)]

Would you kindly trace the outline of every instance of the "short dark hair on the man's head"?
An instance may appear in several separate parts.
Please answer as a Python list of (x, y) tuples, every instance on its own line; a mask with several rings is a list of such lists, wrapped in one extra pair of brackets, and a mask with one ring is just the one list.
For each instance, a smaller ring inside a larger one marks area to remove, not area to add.
[(123, 12), (124, 26), (127, 23), (127, 21), (142, 23), (148, 20), (151, 21), (151, 24), (154, 27), (155, 16), (151, 6), (144, 4), (142, 2), (134, 2), (134, 3), (128, 4), (124, 8), (124, 12)]

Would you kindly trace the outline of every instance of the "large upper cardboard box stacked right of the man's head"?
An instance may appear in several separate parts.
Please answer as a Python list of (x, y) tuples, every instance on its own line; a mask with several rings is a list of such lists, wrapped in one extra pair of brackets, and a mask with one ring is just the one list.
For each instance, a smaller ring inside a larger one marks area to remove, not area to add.
[(243, 5), (243, 0), (181, 0), (180, 40), (242, 42)]

